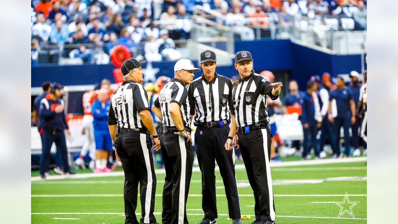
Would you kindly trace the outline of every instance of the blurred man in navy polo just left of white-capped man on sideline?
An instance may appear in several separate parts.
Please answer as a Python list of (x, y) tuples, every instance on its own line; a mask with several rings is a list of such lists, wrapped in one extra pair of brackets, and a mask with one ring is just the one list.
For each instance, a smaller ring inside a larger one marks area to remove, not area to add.
[[(335, 102), (337, 108), (336, 117), (332, 116), (332, 102)], [(336, 133), (336, 151), (332, 157), (341, 157), (340, 154), (340, 129), (343, 127), (344, 130), (344, 147), (345, 156), (349, 157), (350, 147), (350, 136), (349, 128), (351, 124), (355, 123), (355, 103), (351, 93), (344, 85), (344, 79), (338, 76), (336, 79), (336, 89), (330, 92), (329, 96), (329, 109), (328, 117), (329, 121), (334, 125), (334, 131)]]

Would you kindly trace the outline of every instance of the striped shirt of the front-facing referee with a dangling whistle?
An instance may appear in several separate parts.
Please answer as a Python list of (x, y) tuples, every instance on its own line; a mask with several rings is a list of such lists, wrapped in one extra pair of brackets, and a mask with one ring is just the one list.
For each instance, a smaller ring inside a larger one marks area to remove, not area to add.
[(195, 114), (197, 122), (217, 122), (230, 120), (232, 104), (232, 82), (225, 76), (215, 73), (211, 81), (201, 77), (195, 79), (188, 87), (188, 98), (191, 115)]

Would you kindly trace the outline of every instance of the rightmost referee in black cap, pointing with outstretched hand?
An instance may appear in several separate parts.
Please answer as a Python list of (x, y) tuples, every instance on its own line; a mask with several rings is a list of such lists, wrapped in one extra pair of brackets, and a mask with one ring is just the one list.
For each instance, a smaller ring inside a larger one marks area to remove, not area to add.
[[(235, 106), (235, 119), (232, 127), (238, 127), (238, 145), (246, 167), (246, 172), (254, 193), (254, 224), (274, 224), (275, 205), (273, 200), (269, 154), (271, 130), (267, 115), (267, 96), (276, 100), (281, 93), (282, 83), (271, 83), (254, 73), (252, 54), (239, 51), (235, 55), (235, 69), (239, 80), (233, 84), (232, 100)], [(231, 128), (225, 143), (227, 151), (232, 150), (232, 139), (236, 129)]]

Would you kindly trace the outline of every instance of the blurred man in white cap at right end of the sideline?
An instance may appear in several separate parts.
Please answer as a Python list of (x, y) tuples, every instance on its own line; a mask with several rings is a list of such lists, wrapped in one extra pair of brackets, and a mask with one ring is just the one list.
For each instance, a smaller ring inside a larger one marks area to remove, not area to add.
[[(351, 71), (349, 73), (349, 76), (351, 78), (351, 83), (349, 84), (348, 88), (351, 90), (355, 106), (358, 105), (359, 102), (359, 91), (361, 90), (362, 84), (359, 82), (359, 73), (357, 71)], [(354, 152), (353, 156), (359, 156), (361, 155), (361, 150), (359, 150), (359, 134), (358, 134), (358, 129), (359, 129), (359, 124), (361, 122), (361, 119), (356, 116), (355, 117), (355, 123), (351, 124), (351, 143), (352, 146), (354, 147)]]

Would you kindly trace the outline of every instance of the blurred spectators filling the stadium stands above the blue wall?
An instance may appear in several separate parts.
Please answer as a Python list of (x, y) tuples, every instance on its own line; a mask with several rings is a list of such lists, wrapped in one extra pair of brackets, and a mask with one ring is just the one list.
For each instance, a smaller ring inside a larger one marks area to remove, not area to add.
[(367, 26), (367, 0), (31, 0), (31, 64), (58, 63), (60, 57), (68, 64), (107, 64), (118, 44), (147, 61), (175, 61), (174, 40), (189, 39), (195, 5), (219, 12), (216, 22), (240, 30), (269, 31), (276, 24), (287, 30), (297, 15), (334, 27)]

